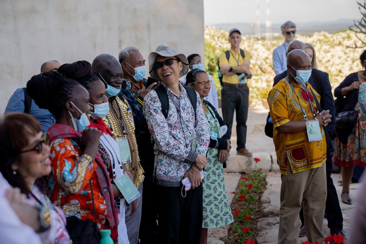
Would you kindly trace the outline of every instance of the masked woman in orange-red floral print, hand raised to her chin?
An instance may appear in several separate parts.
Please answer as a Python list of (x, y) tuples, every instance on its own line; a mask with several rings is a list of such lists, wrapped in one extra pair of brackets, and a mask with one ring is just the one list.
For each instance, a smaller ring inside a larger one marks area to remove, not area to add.
[(88, 91), (59, 72), (46, 72), (29, 80), (27, 93), (56, 117), (57, 123), (47, 130), (52, 166), (49, 186), (51, 200), (63, 210), (68, 226), (88, 219), (99, 229), (117, 226), (111, 183), (97, 151), (101, 132), (86, 128), (91, 112)]

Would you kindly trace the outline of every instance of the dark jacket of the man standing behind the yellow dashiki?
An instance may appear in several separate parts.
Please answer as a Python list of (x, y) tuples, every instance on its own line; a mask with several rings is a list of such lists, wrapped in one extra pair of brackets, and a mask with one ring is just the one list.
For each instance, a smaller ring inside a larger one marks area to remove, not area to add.
[[(275, 86), (281, 79), (287, 76), (287, 70), (282, 74), (276, 75), (273, 86)], [(333, 129), (336, 116), (336, 109), (334, 107), (334, 98), (332, 95), (332, 86), (330, 86), (329, 75), (326, 72), (311, 68), (311, 76), (309, 78), (310, 85), (320, 95), (320, 106), (324, 110), (329, 110), (332, 115), (332, 122), (326, 128), (330, 138), (333, 138)]]

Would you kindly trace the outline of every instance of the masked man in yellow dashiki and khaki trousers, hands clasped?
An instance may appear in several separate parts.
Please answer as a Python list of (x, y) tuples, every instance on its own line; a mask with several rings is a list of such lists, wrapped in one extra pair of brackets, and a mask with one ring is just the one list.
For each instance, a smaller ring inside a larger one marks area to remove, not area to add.
[[(328, 125), (332, 116), (329, 110), (318, 111), (315, 99), (320, 101), (320, 96), (307, 83), (311, 62), (303, 50), (288, 53), (287, 71), (287, 77), (268, 94), (282, 180), (278, 243), (298, 242), (301, 203), (307, 239), (311, 243), (324, 242), (326, 142), (323, 126)], [(309, 141), (306, 123), (320, 127), (318, 140)]]

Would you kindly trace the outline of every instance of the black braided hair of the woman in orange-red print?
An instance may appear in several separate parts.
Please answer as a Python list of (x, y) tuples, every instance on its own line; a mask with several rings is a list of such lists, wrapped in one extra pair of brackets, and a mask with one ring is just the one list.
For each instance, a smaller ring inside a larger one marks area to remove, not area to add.
[(27, 83), (27, 93), (43, 109), (48, 109), (56, 119), (63, 116), (65, 103), (74, 97), (76, 80), (66, 79), (65, 75), (50, 71), (34, 75)]

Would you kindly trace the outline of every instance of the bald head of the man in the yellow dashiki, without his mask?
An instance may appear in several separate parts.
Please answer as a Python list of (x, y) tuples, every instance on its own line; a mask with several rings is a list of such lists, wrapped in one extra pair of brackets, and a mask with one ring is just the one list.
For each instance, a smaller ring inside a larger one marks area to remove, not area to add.
[(311, 61), (309, 55), (301, 49), (295, 49), (287, 55), (287, 78), (291, 82), (297, 83), (297, 70), (311, 70)]

